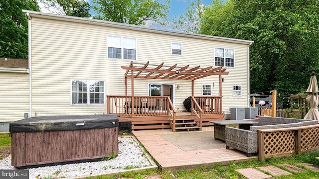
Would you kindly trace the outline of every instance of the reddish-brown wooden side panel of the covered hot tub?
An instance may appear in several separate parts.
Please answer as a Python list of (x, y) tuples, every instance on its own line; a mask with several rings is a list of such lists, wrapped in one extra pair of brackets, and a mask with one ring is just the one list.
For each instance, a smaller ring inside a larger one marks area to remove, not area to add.
[[(13, 136), (21, 136), (13, 133)], [(12, 166), (23, 167), (107, 158), (118, 155), (118, 127), (24, 133), (25, 149), (17, 147)], [(21, 138), (21, 137), (20, 137)], [(13, 139), (13, 138), (12, 138)], [(12, 140), (13, 141), (13, 140)], [(20, 142), (23, 143), (23, 142)], [(12, 143), (13, 144), (13, 143)], [(20, 157), (25, 156), (25, 162)]]

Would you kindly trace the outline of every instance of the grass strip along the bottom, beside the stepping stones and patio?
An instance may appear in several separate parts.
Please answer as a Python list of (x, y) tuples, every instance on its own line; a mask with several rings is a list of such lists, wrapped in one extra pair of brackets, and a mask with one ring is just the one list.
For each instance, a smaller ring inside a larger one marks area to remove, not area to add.
[[(293, 156), (291, 158), (272, 158), (266, 159), (265, 162), (258, 160), (251, 160), (241, 162), (239, 164), (229, 164), (227, 166), (215, 165), (213, 167), (204, 167), (191, 171), (178, 171), (174, 173), (160, 173), (157, 170), (146, 170), (143, 172), (128, 172), (124, 174), (110, 175), (110, 176), (99, 176), (97, 179), (144, 179), (147, 176), (159, 176), (161, 179), (244, 179), (242, 175), (236, 172), (236, 169), (254, 168), (263, 166), (276, 166), (278, 164), (292, 164), (296, 163), (309, 163), (319, 167), (319, 153), (302, 154), (299, 156)], [(299, 166), (300, 167), (300, 166)], [(273, 179), (318, 179), (319, 172), (313, 172), (307, 170), (305, 173), (298, 173), (293, 175), (277, 176)]]

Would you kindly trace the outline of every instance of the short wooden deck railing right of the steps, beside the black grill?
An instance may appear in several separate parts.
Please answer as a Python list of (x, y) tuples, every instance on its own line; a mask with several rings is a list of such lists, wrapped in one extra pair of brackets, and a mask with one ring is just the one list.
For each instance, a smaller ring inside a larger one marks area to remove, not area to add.
[(221, 97), (220, 96), (195, 96), (194, 100), (197, 101), (199, 106), (194, 106), (195, 110), (198, 108), (203, 110), (203, 114), (221, 114)]

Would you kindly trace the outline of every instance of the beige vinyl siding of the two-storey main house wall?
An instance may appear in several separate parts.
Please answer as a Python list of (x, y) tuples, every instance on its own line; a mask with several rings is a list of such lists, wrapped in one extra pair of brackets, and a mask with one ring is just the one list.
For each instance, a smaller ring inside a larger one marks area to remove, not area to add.
[[(114, 28), (102, 25), (67, 22), (32, 17), (32, 115), (103, 114), (106, 105), (71, 105), (70, 80), (105, 81), (106, 95), (125, 95), (125, 70), (131, 60), (108, 59), (107, 35), (137, 39), (137, 62), (182, 67), (214, 65), (214, 47), (235, 50), (235, 67), (227, 68), (222, 95), (223, 111), (229, 107), (247, 106), (247, 45), (209, 39)], [(182, 55), (171, 55), (171, 42), (182, 43)], [(153, 66), (154, 67), (154, 66)], [(148, 95), (148, 83), (178, 84), (175, 108), (184, 110), (183, 101), (191, 96), (191, 81), (134, 80), (134, 95)], [(195, 81), (195, 96), (201, 96), (201, 84), (214, 84), (213, 95), (219, 95), (219, 76)], [(242, 96), (232, 96), (232, 86), (242, 86)], [(131, 79), (128, 78), (128, 95)], [(233, 102), (236, 102), (234, 104)]]

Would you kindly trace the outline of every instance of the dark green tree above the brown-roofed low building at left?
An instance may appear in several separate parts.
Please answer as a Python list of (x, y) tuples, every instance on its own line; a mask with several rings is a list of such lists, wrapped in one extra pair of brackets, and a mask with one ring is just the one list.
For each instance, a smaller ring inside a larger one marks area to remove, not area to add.
[(36, 0), (0, 0), (0, 56), (28, 57), (28, 18), (22, 9), (39, 11)]

